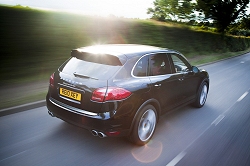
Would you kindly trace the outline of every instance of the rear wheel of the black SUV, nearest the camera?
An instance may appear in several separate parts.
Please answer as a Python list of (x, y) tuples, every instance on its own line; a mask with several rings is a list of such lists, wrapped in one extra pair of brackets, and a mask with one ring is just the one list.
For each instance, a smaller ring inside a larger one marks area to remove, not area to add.
[(140, 146), (148, 143), (155, 132), (156, 123), (156, 109), (152, 105), (146, 105), (136, 115), (130, 141)]

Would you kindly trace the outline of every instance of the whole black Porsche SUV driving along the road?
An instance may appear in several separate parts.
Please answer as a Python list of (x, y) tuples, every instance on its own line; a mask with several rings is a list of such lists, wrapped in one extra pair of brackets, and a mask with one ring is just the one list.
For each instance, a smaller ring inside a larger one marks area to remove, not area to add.
[(94, 136), (128, 136), (144, 145), (159, 116), (192, 103), (202, 107), (209, 76), (177, 51), (107, 44), (74, 49), (50, 77), (51, 116)]

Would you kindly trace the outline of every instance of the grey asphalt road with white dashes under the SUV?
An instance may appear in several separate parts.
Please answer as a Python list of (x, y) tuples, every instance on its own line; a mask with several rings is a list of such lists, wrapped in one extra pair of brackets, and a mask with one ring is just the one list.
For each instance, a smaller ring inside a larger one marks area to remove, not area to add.
[(0, 117), (0, 165), (250, 165), (250, 54), (203, 66), (207, 103), (161, 117), (146, 146), (93, 137), (46, 107)]

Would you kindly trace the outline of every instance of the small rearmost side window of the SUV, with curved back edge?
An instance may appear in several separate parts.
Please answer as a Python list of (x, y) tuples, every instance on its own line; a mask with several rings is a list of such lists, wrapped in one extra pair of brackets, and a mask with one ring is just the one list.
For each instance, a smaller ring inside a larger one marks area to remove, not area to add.
[(148, 56), (141, 58), (135, 65), (133, 75), (137, 77), (147, 76)]

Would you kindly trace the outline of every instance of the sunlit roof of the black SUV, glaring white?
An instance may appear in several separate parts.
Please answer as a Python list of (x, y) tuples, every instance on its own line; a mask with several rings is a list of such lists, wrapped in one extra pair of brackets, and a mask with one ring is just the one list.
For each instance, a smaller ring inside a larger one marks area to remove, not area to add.
[(167, 49), (139, 44), (105, 44), (81, 47), (76, 50), (93, 54), (110, 54), (117, 57), (125, 55), (127, 58), (130, 58), (135, 56), (135, 54), (143, 55), (150, 52), (166, 51)]

